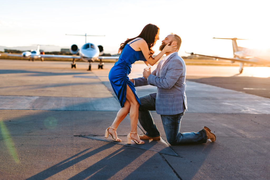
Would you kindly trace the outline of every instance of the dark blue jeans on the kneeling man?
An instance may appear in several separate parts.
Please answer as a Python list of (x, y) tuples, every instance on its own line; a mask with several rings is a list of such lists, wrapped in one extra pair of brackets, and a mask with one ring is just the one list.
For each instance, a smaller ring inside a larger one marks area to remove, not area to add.
[[(140, 97), (139, 121), (149, 137), (160, 135), (156, 124), (153, 121), (150, 111), (156, 110), (156, 99), (149, 94)], [(197, 133), (180, 133), (180, 121), (185, 111), (175, 115), (160, 115), (168, 143), (171, 145), (200, 144), (207, 141), (205, 130)]]

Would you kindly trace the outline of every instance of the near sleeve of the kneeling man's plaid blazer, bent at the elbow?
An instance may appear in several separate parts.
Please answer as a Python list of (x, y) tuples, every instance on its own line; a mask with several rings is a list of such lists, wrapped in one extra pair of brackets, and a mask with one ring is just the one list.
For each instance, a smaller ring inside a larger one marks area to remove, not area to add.
[[(157, 77), (150, 74), (147, 78), (147, 83), (163, 89), (171, 89), (177, 82), (179, 77), (183, 76), (184, 66), (178, 59), (171, 59), (173, 62), (167, 63), (166, 75), (164, 77)], [(170, 61), (171, 61), (170, 60)], [(164, 68), (164, 67), (163, 67)], [(164, 69), (162, 69), (164, 70)]]

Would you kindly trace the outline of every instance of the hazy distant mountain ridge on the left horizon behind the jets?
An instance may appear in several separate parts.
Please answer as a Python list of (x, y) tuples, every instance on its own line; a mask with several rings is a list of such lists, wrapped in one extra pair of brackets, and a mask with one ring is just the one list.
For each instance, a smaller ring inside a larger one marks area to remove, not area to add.
[[(61, 49), (69, 49), (70, 47), (60, 47), (55, 45), (48, 45), (48, 46), (42, 46), (40, 45), (40, 50), (43, 50), (44, 52), (53, 52), (53, 51), (60, 51)], [(4, 49), (13, 49), (13, 50), (20, 50), (20, 51), (30, 51), (31, 49), (36, 50), (37, 46), (16, 46), (16, 47), (6, 47), (6, 46), (0, 46), (0, 51), (4, 52)]]

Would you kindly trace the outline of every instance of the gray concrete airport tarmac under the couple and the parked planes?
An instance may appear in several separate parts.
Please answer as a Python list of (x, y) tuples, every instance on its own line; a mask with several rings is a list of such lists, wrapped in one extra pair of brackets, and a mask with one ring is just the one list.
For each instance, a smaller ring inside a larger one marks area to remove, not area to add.
[[(84, 62), (77, 69), (70, 62), (0, 64), (0, 179), (270, 179), (270, 99), (243, 92), (268, 89), (262, 72), (269, 68), (247, 67), (238, 75), (237, 67), (187, 66), (188, 111), (180, 132), (205, 125), (217, 140), (171, 146), (155, 111), (160, 141), (128, 145), (129, 117), (117, 129), (122, 142), (104, 138), (120, 109), (108, 80), (112, 63), (102, 70), (93, 63), (92, 71)], [(140, 77), (144, 66), (134, 64), (130, 78)], [(251, 76), (256, 86), (241, 83)], [(234, 77), (245, 80), (230, 82)], [(222, 78), (230, 85), (217, 87)], [(136, 89), (139, 96), (156, 91)]]

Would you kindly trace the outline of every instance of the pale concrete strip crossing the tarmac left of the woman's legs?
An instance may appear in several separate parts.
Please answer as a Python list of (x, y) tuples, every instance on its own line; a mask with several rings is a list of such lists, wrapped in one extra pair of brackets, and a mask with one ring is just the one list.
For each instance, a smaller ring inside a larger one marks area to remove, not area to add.
[(0, 96), (0, 109), (51, 111), (119, 111), (115, 98)]

